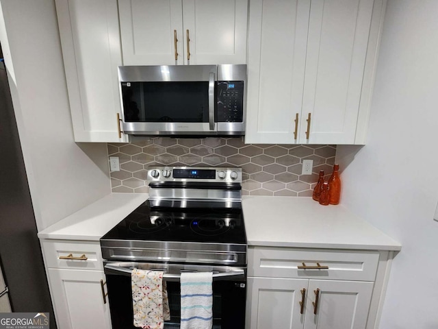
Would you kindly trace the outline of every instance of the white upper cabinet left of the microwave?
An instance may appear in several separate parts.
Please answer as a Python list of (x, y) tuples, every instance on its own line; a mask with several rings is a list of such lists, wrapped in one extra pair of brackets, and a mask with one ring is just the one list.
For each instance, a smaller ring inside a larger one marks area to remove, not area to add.
[(55, 0), (77, 142), (124, 142), (117, 66), (122, 65), (116, 0)]

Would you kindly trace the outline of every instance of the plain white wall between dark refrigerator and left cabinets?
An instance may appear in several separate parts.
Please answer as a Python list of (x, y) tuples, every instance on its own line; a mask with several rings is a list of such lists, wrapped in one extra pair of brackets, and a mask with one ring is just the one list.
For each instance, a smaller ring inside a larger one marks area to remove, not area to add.
[(0, 3), (0, 42), (42, 230), (111, 193), (106, 144), (73, 141), (54, 1)]

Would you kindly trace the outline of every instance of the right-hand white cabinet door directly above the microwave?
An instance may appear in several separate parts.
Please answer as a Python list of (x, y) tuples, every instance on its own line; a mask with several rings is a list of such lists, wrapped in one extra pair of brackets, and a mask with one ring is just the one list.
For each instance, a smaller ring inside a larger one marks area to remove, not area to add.
[(247, 0), (183, 0), (184, 63), (245, 64)]

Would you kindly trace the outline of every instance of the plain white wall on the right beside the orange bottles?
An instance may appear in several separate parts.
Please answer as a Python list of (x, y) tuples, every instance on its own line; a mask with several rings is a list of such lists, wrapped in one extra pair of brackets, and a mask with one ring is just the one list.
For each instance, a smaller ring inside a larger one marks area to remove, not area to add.
[(402, 243), (381, 329), (438, 328), (437, 14), (388, 1), (368, 142), (342, 173), (342, 204)]

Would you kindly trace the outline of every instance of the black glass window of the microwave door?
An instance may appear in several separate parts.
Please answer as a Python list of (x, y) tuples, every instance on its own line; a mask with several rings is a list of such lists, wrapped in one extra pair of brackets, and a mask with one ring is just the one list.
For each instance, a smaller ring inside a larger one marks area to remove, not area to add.
[(208, 82), (122, 82), (126, 122), (208, 122)]

